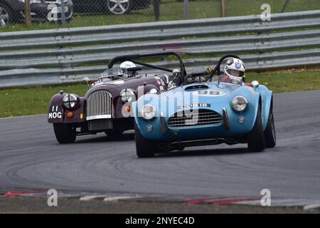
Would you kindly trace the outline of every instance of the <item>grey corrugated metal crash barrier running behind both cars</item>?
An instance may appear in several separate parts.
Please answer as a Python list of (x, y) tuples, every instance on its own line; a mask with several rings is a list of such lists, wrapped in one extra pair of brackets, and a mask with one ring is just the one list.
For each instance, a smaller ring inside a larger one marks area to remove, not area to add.
[[(320, 65), (320, 10), (0, 33), (0, 88), (97, 78), (114, 56), (176, 51), (188, 72), (240, 55), (251, 71)], [(176, 66), (164, 60), (161, 66)]]

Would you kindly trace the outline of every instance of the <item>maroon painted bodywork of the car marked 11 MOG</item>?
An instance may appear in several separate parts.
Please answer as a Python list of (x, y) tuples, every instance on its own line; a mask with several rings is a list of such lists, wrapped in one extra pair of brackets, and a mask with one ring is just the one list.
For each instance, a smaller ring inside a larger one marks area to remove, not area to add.
[[(118, 84), (117, 82), (119, 81), (123, 81), (123, 83)], [(84, 97), (80, 98), (80, 103), (77, 106), (77, 108), (75, 108), (74, 110), (71, 110), (73, 112), (73, 118), (68, 118), (67, 114), (69, 110), (67, 110), (63, 106), (63, 98), (68, 93), (55, 94), (51, 99), (50, 105), (49, 105), (48, 123), (73, 124), (75, 128), (81, 128), (80, 134), (88, 133), (87, 120), (86, 120), (87, 98), (90, 94), (92, 94), (97, 90), (107, 90), (112, 94), (112, 120), (114, 121), (114, 126), (117, 126), (117, 128), (121, 128), (122, 130), (133, 129), (134, 126), (133, 126), (132, 118), (125, 118), (122, 115), (122, 106), (124, 105), (124, 103), (122, 102), (119, 94), (125, 88), (130, 88), (134, 90), (137, 98), (137, 95), (138, 95), (137, 90), (139, 86), (143, 87), (144, 93), (149, 93), (149, 91), (152, 88), (156, 88), (156, 90), (160, 92), (161, 90), (167, 89), (167, 78), (164, 75), (153, 74), (153, 75), (139, 75), (139, 76), (134, 76), (132, 78), (120, 78), (115, 81), (97, 83), (95, 86), (93, 86), (87, 91)], [(161, 86), (162, 88), (160, 88)], [(57, 113), (57, 114), (53, 115), (53, 113)], [(53, 118), (53, 117), (56, 117), (56, 118)], [(58, 118), (58, 117), (61, 117), (61, 118)], [(93, 131), (92, 133), (97, 133), (102, 131), (103, 130)]]

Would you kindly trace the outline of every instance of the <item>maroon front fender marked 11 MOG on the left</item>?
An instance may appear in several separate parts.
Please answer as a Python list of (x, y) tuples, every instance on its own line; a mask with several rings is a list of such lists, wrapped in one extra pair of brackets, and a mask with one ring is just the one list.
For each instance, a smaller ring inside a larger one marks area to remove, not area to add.
[(80, 98), (78, 108), (72, 110), (73, 118), (68, 118), (68, 111), (63, 107), (63, 97), (68, 93), (53, 95), (48, 107), (48, 123), (80, 123), (85, 122), (85, 99)]

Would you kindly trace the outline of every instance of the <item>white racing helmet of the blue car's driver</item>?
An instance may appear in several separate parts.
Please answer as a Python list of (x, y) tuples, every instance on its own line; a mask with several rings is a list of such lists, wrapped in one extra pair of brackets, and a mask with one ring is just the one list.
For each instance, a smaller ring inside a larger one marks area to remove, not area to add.
[(245, 76), (245, 63), (239, 58), (232, 58), (225, 63), (225, 76), (230, 78), (230, 83), (242, 83)]

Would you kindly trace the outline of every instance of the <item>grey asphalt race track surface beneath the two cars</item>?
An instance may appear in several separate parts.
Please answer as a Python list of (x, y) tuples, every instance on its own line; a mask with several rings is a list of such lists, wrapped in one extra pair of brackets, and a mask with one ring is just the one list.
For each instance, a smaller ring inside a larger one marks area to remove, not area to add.
[(320, 90), (274, 95), (277, 147), (189, 147), (138, 159), (134, 135), (59, 145), (46, 115), (0, 119), (0, 192), (57, 190), (320, 199)]

